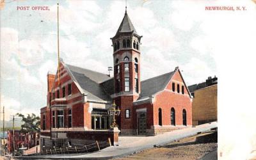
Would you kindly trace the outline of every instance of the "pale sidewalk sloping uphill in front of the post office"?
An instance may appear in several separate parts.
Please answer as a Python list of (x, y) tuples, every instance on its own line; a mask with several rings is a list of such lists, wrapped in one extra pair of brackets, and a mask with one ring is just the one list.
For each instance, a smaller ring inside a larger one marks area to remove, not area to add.
[(166, 132), (157, 136), (132, 137), (120, 136), (120, 145), (108, 147), (89, 154), (56, 154), (43, 156), (16, 157), (20, 159), (111, 159), (115, 157), (127, 156), (147, 148), (153, 148), (154, 145), (164, 145), (172, 141), (193, 136), (198, 132), (206, 132), (217, 127), (217, 122), (211, 124), (198, 125), (196, 127), (180, 129), (177, 131)]

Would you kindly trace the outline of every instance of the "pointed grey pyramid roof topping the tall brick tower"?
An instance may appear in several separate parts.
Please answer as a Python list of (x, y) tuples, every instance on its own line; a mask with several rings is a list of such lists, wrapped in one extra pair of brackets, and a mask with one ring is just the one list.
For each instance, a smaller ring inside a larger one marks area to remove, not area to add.
[(134, 28), (134, 26), (131, 22), (131, 19), (129, 18), (127, 12), (125, 11), (124, 19), (122, 20), (122, 22), (116, 32), (116, 35), (118, 33), (131, 32), (131, 31), (133, 31), (134, 33), (136, 33), (138, 35), (138, 33), (136, 32), (136, 29)]

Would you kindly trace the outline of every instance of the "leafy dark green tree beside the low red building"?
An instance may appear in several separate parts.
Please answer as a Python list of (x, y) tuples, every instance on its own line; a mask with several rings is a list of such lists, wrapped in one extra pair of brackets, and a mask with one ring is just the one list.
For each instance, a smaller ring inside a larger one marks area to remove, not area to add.
[(17, 116), (22, 118), (23, 124), (21, 125), (21, 132), (31, 133), (40, 132), (40, 117), (36, 116), (34, 113), (30, 116), (24, 116), (21, 113), (17, 113)]

